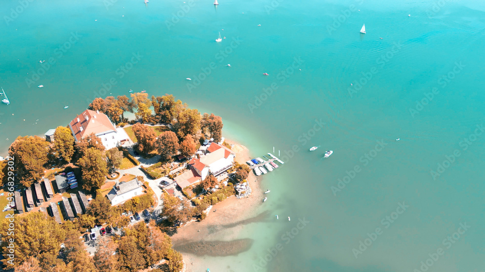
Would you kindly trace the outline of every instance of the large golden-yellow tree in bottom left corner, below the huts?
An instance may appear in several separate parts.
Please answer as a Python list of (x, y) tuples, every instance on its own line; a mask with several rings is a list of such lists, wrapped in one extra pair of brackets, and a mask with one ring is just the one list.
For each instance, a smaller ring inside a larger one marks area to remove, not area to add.
[[(41, 253), (57, 255), (61, 243), (65, 240), (65, 230), (42, 212), (29, 212), (22, 216), (15, 216), (13, 237), (8, 234), (9, 221), (0, 222), (1, 246), (4, 259), (3, 265), (7, 269), (14, 268), (30, 257), (38, 257)], [(15, 239), (14, 265), (8, 263), (9, 239)]]

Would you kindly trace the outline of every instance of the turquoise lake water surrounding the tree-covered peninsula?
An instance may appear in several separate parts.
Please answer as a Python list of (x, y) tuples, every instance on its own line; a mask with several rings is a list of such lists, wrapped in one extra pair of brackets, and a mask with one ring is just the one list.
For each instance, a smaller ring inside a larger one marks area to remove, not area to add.
[(485, 271), (485, 3), (219, 4), (2, 1), (1, 154), (94, 97), (173, 93), (222, 116), (254, 156), (275, 147), (286, 162), (261, 181), (270, 218), (239, 235), (251, 249), (199, 267)]

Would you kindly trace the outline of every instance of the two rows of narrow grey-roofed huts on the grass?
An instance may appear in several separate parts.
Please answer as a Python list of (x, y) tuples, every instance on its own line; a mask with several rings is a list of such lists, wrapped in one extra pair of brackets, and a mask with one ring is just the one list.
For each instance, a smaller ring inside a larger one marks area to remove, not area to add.
[[(59, 193), (65, 192), (59, 189), (57, 189)], [(49, 201), (53, 196), (54, 193), (50, 181), (44, 179), (43, 182), (34, 183), (32, 187), (27, 188), (23, 192), (14, 192), (15, 209), (18, 213), (30, 212), (35, 206), (41, 205), (44, 200)], [(70, 194), (70, 196), (70, 198), (62, 196), (62, 200), (59, 202), (60, 210), (65, 220), (74, 220), (79, 214), (85, 213), (89, 205), (86, 195), (80, 191), (76, 192), (76, 194)], [(40, 211), (54, 217), (57, 223), (63, 222), (55, 202), (50, 202), (48, 209), (41, 207)]]

